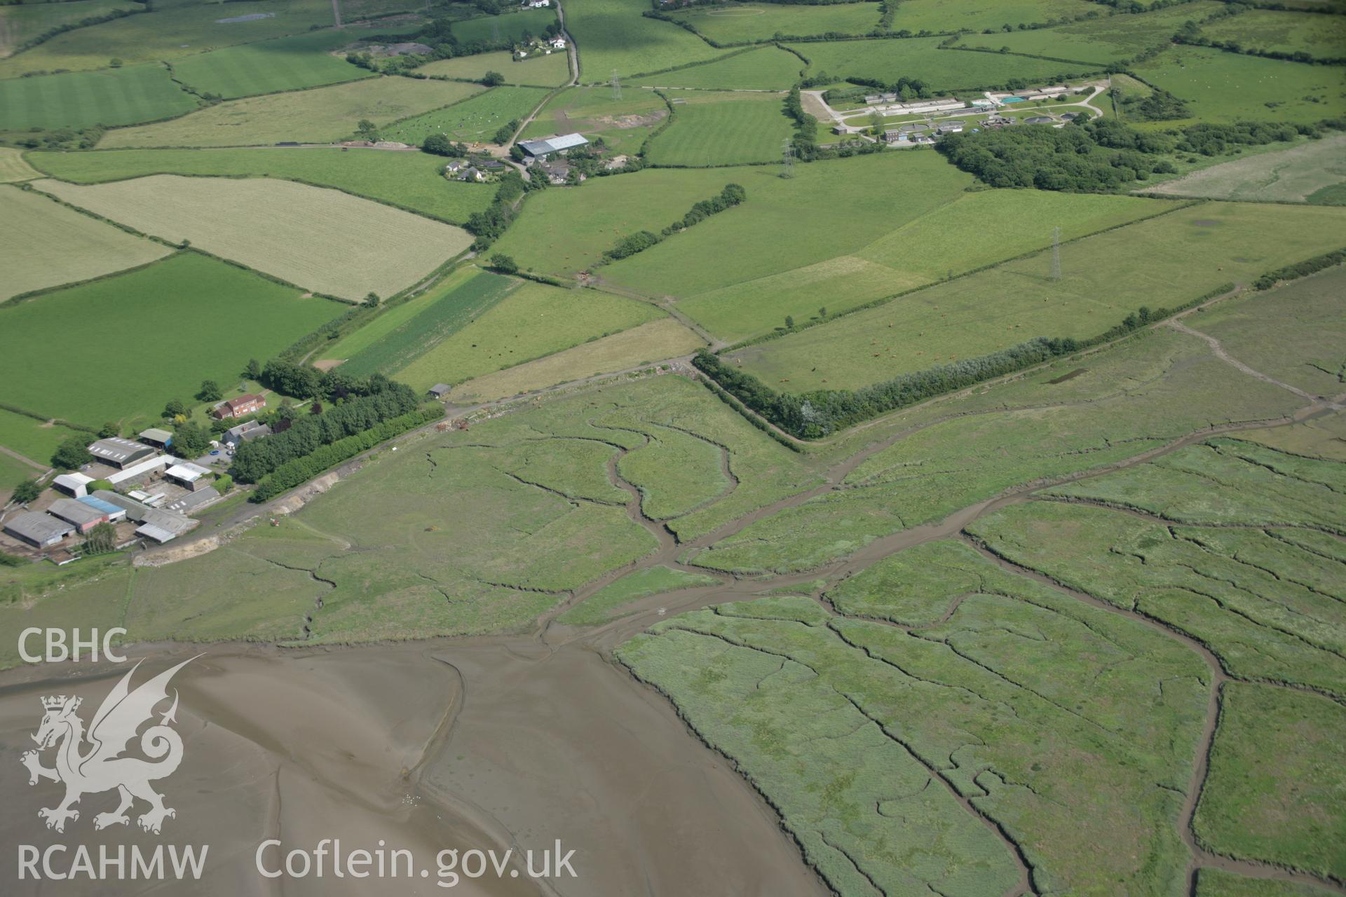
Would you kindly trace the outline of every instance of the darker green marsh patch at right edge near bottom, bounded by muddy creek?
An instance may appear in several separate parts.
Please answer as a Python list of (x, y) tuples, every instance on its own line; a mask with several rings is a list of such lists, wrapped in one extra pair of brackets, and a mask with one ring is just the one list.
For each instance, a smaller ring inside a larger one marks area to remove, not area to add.
[[(1341, 878), (1346, 710), (1272, 686), (1225, 686), (1193, 827), (1210, 850)], [(1275, 758), (1275, 760), (1273, 760)]]

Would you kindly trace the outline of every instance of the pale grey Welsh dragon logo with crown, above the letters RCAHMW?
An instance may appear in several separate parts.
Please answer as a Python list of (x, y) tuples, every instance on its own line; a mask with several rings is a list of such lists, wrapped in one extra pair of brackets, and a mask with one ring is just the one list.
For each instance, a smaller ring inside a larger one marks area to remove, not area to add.
[[(42, 699), (46, 714), (36, 734), (32, 736), (38, 749), (26, 750), (22, 761), (28, 768), (30, 785), (50, 779), (66, 787), (65, 800), (55, 807), (38, 811), (38, 815), (47, 822), (47, 828), (65, 831), (67, 819), (79, 819), (79, 811), (74, 810), (74, 806), (83, 795), (113, 788), (121, 796), (121, 803), (112, 812), (96, 815), (94, 828), (129, 824), (131, 818), (127, 811), (137, 797), (149, 804), (149, 810), (136, 819), (145, 831), (157, 835), (164, 819), (178, 815), (172, 807), (164, 806), (164, 796), (149, 785), (156, 779), (171, 776), (182, 763), (182, 737), (168, 726), (170, 722), (176, 722), (176, 689), (172, 694), (172, 706), (160, 714), (156, 725), (151, 725), (140, 736), (140, 750), (149, 760), (122, 754), (136, 738), (136, 730), (152, 719), (155, 707), (168, 699), (168, 680), (195, 659), (183, 660), (132, 691), (131, 676), (141, 663), (137, 662), (104, 698), (98, 711), (93, 714), (87, 732), (83, 719), (77, 714), (81, 698), (59, 695)], [(40, 752), (47, 748), (57, 749), (54, 768), (42, 765)]]

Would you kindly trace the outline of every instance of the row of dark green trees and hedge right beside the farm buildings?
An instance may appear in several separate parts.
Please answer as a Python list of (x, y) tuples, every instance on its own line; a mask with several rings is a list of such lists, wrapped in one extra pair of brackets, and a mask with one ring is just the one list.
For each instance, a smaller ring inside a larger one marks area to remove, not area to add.
[(420, 403), (416, 393), (405, 383), (392, 381), (384, 383), (385, 387), (377, 393), (347, 398), (326, 410), (320, 403), (314, 403), (315, 413), (292, 418), (284, 432), (244, 442), (234, 453), (234, 479), (240, 483), (257, 483), (281, 465), (310, 455), (322, 445), (373, 429), (384, 421), (415, 410)]

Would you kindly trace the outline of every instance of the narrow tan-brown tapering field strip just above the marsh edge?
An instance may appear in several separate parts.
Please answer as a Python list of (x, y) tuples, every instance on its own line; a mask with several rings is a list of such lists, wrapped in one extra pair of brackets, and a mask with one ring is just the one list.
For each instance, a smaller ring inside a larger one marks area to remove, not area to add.
[(581, 346), (546, 355), (495, 374), (472, 378), (455, 389), (455, 402), (487, 402), (546, 389), (559, 383), (611, 374), (677, 355), (690, 355), (705, 346), (673, 319), (661, 319), (603, 336)]

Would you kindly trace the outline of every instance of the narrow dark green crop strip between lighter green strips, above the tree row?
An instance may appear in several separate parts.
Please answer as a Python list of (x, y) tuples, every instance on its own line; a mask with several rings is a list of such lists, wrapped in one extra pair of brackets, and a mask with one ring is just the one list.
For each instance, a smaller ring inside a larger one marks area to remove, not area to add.
[[(413, 315), (393, 309), (384, 316), (386, 323), (374, 321), (380, 324), (378, 331), (366, 335), (367, 328), (361, 328), (351, 335), (349, 344), (334, 348), (334, 356), (347, 359), (342, 373), (351, 377), (369, 377), (376, 371), (392, 374), (476, 320), (518, 286), (517, 280), (483, 270), (455, 272), (428, 299), (406, 303), (408, 308), (416, 309)], [(424, 391), (436, 382), (416, 386)]]

